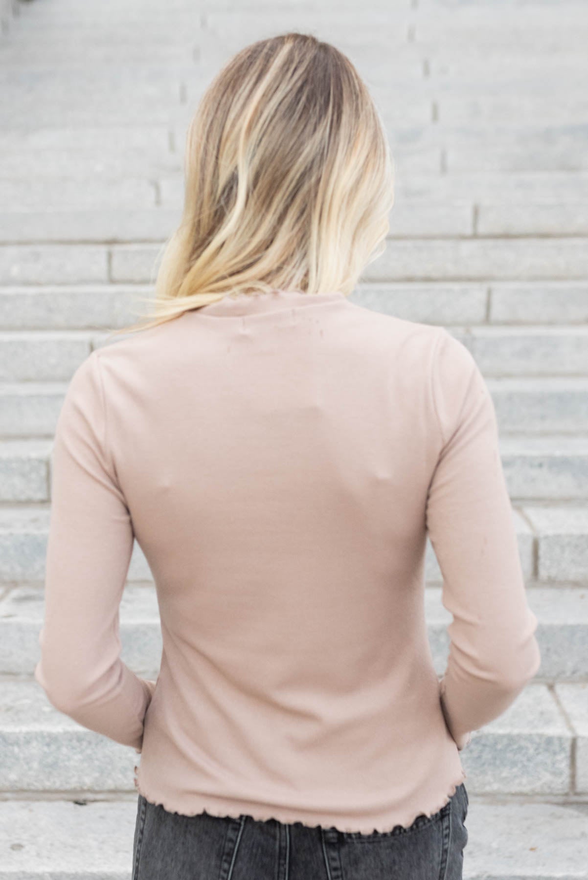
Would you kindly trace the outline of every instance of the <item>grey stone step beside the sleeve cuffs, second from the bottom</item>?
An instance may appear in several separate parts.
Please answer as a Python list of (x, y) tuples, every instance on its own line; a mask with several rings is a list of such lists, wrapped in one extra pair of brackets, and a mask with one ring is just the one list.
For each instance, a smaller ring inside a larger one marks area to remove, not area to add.
[[(474, 730), (462, 755), (477, 795), (588, 796), (588, 684), (532, 682)], [(49, 702), (34, 680), (0, 680), (0, 792), (132, 792), (136, 752)], [(572, 756), (575, 755), (575, 760)]]

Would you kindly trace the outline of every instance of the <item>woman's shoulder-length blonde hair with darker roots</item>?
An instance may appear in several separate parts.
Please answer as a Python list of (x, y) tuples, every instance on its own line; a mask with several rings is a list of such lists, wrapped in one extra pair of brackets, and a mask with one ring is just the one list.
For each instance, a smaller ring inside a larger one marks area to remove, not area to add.
[(393, 158), (379, 111), (349, 58), (311, 34), (226, 63), (188, 128), (184, 169), (148, 323), (115, 333), (227, 294), (349, 295), (386, 248)]

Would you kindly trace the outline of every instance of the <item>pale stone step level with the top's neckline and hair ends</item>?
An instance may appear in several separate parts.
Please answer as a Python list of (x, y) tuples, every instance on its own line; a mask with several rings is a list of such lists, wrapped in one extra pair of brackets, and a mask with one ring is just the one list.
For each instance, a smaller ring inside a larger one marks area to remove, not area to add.
[[(148, 231), (149, 212), (138, 214)], [(152, 288), (140, 282), (6, 285), (0, 287), (0, 326), (110, 332), (143, 312), (143, 297), (151, 299)], [(402, 319), (454, 328), (588, 322), (588, 281), (362, 282), (350, 299)]]

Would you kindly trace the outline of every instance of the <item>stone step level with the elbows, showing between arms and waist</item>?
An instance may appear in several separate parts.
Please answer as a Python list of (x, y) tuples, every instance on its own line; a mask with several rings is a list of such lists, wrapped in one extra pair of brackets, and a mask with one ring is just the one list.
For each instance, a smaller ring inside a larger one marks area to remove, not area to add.
[[(24, 536), (25, 533), (20, 532), (20, 537)], [(15, 544), (18, 550), (16, 541)], [(4, 540), (2, 546), (6, 554)], [(429, 545), (428, 569), (436, 567), (433, 557)], [(434, 585), (436, 573), (429, 570), (427, 574), (430, 575), (425, 589), (427, 631), (433, 664), (441, 676), (447, 663), (447, 626), (452, 622), (452, 615), (442, 603), (441, 587)], [(133, 579), (141, 576), (143, 581), (134, 583)], [(135, 544), (129, 579), (121, 599), (122, 657), (146, 678), (156, 678), (162, 642), (157, 592), (149, 578), (151, 572)], [(536, 680), (546, 684), (588, 681), (588, 578), (577, 586), (529, 586), (527, 595), (538, 620), (541, 666)], [(0, 595), (0, 676), (32, 676), (39, 658), (43, 616), (42, 585), (4, 588)]]

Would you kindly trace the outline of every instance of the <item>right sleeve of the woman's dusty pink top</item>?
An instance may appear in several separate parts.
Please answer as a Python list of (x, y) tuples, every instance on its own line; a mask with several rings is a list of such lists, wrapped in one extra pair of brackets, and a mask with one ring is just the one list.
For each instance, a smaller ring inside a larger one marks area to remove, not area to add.
[(540, 667), (537, 618), (527, 604), (496, 410), (466, 346), (445, 327), (432, 377), (440, 452), (427, 529), (452, 613), (439, 693), (463, 749), (471, 731), (502, 715)]

